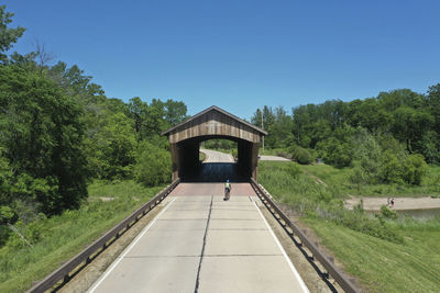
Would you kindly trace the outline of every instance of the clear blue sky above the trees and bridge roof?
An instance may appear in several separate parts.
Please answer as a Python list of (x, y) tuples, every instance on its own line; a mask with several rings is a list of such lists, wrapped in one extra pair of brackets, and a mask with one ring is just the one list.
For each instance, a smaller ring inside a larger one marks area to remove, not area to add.
[(250, 119), (440, 82), (440, 1), (7, 0), (20, 53), (44, 43), (109, 98)]

